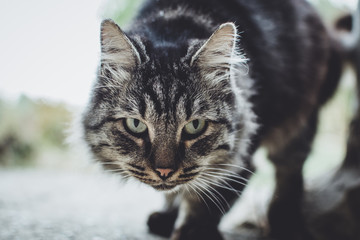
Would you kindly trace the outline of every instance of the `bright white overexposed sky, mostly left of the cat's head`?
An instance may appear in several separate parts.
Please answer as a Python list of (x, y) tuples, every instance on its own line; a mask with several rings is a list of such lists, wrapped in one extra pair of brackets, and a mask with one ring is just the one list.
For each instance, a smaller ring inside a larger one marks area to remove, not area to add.
[[(84, 104), (98, 64), (99, 8), (106, 0), (0, 1), (0, 97), (25, 93)], [(355, 6), (357, 0), (330, 1)]]

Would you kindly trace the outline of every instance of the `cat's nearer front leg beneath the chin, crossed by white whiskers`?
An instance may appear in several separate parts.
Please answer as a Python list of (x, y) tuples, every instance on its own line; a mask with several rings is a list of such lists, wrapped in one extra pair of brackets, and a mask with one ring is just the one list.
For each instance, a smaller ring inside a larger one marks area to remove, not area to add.
[[(204, 171), (203, 176), (186, 186), (171, 240), (223, 239), (219, 222), (246, 186), (243, 181), (252, 174), (250, 170), (243, 170), (252, 169), (250, 158), (244, 162), (248, 165), (240, 167), (240, 171), (208, 168), (208, 172)], [(212, 176), (205, 178), (209, 175)]]

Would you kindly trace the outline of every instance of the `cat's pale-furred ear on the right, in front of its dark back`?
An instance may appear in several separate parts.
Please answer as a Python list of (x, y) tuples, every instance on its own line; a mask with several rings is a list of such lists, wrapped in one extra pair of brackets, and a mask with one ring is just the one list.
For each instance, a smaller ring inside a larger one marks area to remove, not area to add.
[(226, 78), (232, 64), (239, 60), (236, 36), (233, 23), (222, 24), (192, 56), (190, 65), (196, 65), (206, 79), (216, 81)]

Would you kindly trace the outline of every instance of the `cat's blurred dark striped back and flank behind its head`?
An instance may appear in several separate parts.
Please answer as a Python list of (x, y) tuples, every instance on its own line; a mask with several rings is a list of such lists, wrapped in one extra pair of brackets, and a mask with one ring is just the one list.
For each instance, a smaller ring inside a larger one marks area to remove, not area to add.
[(264, 131), (306, 118), (319, 104), (330, 37), (306, 0), (148, 0), (136, 21), (132, 31), (178, 45), (234, 22)]

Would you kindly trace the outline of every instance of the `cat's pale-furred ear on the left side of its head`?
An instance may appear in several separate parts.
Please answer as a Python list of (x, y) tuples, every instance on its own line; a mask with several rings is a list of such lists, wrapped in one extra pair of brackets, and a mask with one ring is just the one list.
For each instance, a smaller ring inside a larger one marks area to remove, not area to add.
[(101, 23), (101, 61), (124, 70), (140, 64), (140, 55), (134, 44), (112, 20)]

